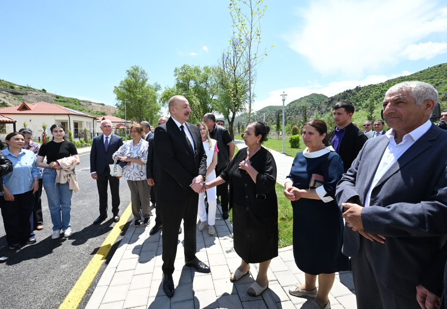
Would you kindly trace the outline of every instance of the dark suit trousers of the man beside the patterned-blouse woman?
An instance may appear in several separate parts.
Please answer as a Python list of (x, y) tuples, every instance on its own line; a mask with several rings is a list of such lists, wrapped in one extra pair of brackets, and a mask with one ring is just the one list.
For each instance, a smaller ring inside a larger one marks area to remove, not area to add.
[(112, 193), (112, 214), (116, 216), (119, 212), (119, 179), (110, 175), (109, 166), (106, 167), (104, 173), (98, 174), (96, 186), (99, 194), (99, 215), (107, 213), (107, 184), (110, 184), (110, 192)]

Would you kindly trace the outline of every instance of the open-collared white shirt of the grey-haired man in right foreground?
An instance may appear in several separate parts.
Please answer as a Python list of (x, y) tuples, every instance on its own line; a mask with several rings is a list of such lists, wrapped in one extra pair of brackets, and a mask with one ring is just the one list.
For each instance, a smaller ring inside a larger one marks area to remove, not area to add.
[(402, 142), (400, 144), (396, 144), (394, 141), (394, 131), (390, 129), (385, 136), (388, 137), (390, 143), (385, 149), (385, 153), (380, 160), (379, 166), (377, 167), (376, 174), (374, 175), (374, 179), (369, 186), (368, 193), (366, 194), (365, 199), (365, 207), (369, 206), (369, 201), (371, 200), (371, 191), (376, 186), (377, 182), (385, 175), (385, 173), (390, 169), (391, 165), (397, 161), (397, 159), (404, 154), (408, 148), (410, 148), (416, 141), (424, 135), (431, 127), (431, 121), (428, 120), (419, 128), (414, 129), (408, 134), (405, 134)]

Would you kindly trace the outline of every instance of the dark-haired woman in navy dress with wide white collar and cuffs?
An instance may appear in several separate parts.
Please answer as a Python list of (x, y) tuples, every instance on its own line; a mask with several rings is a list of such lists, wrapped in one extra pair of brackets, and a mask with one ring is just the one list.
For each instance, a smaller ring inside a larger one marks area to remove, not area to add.
[(304, 124), (307, 148), (296, 154), (284, 185), (284, 195), (293, 207), (293, 254), (306, 279), (304, 284), (290, 287), (289, 293), (315, 297), (307, 309), (331, 308), (328, 296), (335, 272), (349, 269), (348, 257), (341, 253), (343, 219), (335, 203), (335, 186), (343, 174), (343, 162), (326, 134), (322, 120), (310, 119)]

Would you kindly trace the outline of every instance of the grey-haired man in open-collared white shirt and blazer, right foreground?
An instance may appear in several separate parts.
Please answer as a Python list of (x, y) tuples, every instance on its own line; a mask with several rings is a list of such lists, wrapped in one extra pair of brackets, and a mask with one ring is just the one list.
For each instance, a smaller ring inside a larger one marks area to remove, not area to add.
[(429, 120), (437, 99), (424, 82), (391, 87), (383, 101), (391, 129), (369, 139), (338, 182), (359, 309), (419, 309), (417, 289), (426, 298), (442, 289), (447, 131)]

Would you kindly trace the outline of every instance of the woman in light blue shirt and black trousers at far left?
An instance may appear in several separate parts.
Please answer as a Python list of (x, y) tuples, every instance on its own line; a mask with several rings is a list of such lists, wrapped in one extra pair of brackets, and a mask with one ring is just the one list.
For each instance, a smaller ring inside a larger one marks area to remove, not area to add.
[(0, 208), (9, 249), (17, 249), (22, 242), (36, 242), (33, 232), (32, 209), (34, 193), (39, 188), (40, 170), (36, 156), (22, 149), (24, 136), (19, 132), (6, 136), (8, 147), (2, 153), (12, 162), (13, 170), (3, 176), (4, 195), (0, 193)]

